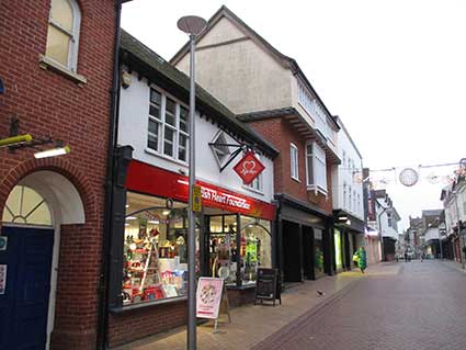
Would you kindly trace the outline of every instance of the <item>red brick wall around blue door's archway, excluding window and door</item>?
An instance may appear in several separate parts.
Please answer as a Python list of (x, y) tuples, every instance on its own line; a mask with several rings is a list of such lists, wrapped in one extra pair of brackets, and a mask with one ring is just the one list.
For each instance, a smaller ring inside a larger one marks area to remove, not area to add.
[(70, 145), (65, 157), (34, 160), (32, 149), (0, 149), (0, 217), (11, 189), (38, 169), (66, 176), (84, 203), (86, 224), (61, 227), (54, 349), (93, 349), (100, 272), (104, 180), (112, 86), (115, 7), (113, 0), (79, 0), (81, 31), (75, 81), (39, 67), (45, 53), (50, 0), (0, 1), (0, 138), (10, 118), (20, 132), (52, 136)]

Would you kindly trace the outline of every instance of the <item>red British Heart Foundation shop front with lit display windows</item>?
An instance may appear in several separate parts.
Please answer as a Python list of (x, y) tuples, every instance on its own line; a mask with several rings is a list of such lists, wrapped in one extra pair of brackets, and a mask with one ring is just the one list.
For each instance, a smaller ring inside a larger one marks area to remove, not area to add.
[[(230, 307), (252, 303), (258, 269), (273, 266), (275, 206), (204, 181), (196, 184), (203, 197), (196, 215), (196, 276), (224, 279)], [(136, 315), (141, 324), (157, 315), (143, 337), (185, 321), (187, 178), (132, 160), (125, 189), (123, 276), (113, 291), (121, 297), (113, 298), (111, 328), (116, 332)], [(112, 269), (118, 270), (118, 262)], [(115, 335), (113, 343), (118, 342)]]

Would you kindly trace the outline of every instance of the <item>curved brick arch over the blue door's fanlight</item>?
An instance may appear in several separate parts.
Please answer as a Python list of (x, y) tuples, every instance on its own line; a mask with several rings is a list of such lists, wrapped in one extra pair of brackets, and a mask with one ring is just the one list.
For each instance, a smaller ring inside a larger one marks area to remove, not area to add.
[(18, 182), (26, 176), (39, 170), (55, 171), (67, 178), (76, 187), (84, 204), (86, 222), (99, 222), (98, 208), (95, 206), (96, 195), (90, 180), (81, 170), (64, 158), (32, 158), (12, 168), (4, 177), (3, 181), (0, 182), (0, 218), (3, 215), (3, 206), (8, 195)]

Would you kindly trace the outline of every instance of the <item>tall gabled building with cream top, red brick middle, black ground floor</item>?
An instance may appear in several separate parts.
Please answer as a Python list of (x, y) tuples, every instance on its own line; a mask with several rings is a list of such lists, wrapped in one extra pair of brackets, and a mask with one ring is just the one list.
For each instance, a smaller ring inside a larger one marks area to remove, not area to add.
[[(331, 169), (341, 162), (334, 117), (298, 64), (226, 7), (196, 45), (197, 81), (280, 151), (275, 267), (285, 282), (332, 273)], [(171, 63), (187, 71), (187, 54), (186, 44)]]

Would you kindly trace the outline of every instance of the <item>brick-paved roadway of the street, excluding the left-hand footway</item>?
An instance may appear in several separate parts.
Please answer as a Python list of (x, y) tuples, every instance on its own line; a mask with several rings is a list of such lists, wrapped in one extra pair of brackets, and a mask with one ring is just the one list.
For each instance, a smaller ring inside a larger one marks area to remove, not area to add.
[(253, 349), (465, 349), (466, 275), (440, 261), (397, 266), (367, 274)]

